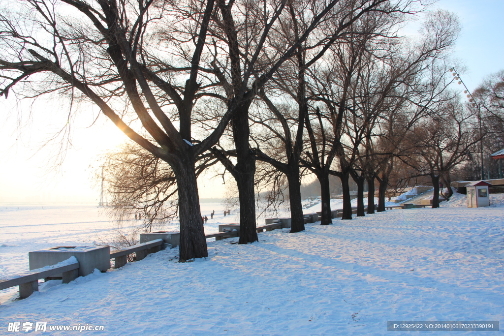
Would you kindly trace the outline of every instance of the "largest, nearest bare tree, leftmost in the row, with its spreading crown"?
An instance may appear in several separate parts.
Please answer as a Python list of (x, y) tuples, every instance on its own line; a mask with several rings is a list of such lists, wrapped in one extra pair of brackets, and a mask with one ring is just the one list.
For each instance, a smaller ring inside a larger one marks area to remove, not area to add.
[[(125, 135), (173, 170), (180, 260), (207, 256), (195, 162), (219, 140), (231, 118), (228, 110), (213, 132), (193, 140), (193, 108), (215, 95), (215, 76), (201, 76), (212, 71), (200, 65), (209, 52), (214, 0), (196, 8), (152, 0), (28, 0), (20, 7), (0, 16), (0, 93), (7, 96), (31, 83), (39, 94), (67, 93), (98, 106)], [(179, 19), (175, 13), (181, 10), (185, 17)], [(160, 47), (160, 41), (169, 42)]]

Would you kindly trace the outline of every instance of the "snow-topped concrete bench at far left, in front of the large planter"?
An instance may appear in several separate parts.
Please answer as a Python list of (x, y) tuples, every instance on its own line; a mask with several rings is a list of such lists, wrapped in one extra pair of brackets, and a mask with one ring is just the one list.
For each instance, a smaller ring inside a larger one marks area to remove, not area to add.
[(79, 276), (79, 261), (77, 261), (75, 257), (73, 257), (72, 260), (75, 261), (71, 263), (68, 263), (68, 260), (61, 261), (55, 265), (45, 266), (42, 268), (37, 268), (36, 270), (32, 270), (25, 276), (19, 276), (6, 281), (0, 281), (0, 290), (19, 286), (19, 298), (25, 299), (32, 295), (34, 291), (38, 291), (39, 279), (54, 277), (55, 275), (61, 273), (63, 274), (63, 283), (68, 284), (69, 282), (77, 279), (77, 277)]

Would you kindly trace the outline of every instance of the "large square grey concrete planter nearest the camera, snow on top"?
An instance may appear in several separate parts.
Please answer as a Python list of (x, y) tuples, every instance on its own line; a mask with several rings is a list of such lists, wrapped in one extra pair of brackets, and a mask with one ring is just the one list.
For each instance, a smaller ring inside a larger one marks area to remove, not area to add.
[[(79, 276), (93, 273), (95, 268), (106, 272), (110, 268), (110, 248), (108, 246), (56, 246), (44, 250), (28, 252), (30, 270), (67, 260), (75, 256), (79, 261)], [(55, 278), (62, 277), (55, 275)]]

